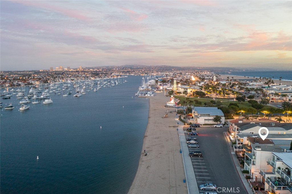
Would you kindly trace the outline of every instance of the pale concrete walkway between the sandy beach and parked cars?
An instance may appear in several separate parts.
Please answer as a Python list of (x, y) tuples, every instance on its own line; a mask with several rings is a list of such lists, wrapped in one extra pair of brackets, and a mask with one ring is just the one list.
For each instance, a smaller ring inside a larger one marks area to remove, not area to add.
[(180, 138), (180, 148), (182, 150), (183, 163), (185, 167), (185, 177), (187, 183), (187, 191), (189, 194), (199, 193), (199, 187), (197, 184), (194, 168), (192, 165), (191, 158), (189, 156), (189, 149), (186, 144), (185, 133), (183, 131), (184, 124), (178, 120), (179, 115), (175, 116), (175, 121), (179, 124), (178, 126), (178, 135)]

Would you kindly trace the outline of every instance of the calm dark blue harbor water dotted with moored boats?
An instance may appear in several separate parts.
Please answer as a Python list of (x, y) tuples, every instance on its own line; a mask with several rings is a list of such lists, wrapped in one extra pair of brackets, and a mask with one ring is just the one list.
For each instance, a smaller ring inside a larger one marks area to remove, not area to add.
[(149, 100), (134, 96), (141, 76), (125, 79), (81, 97), (50, 93), (52, 104), (29, 103), (25, 111), (15, 95), (1, 98), (15, 108), (1, 109), (0, 193), (127, 193)]

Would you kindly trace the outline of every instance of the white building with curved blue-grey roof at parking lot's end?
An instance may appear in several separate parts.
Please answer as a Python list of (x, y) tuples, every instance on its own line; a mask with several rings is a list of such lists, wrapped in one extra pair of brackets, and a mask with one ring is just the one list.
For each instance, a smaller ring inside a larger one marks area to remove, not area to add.
[(192, 115), (194, 122), (199, 124), (217, 124), (213, 121), (216, 115), (221, 117), (221, 123), (225, 123), (224, 114), (217, 107), (194, 107)]

